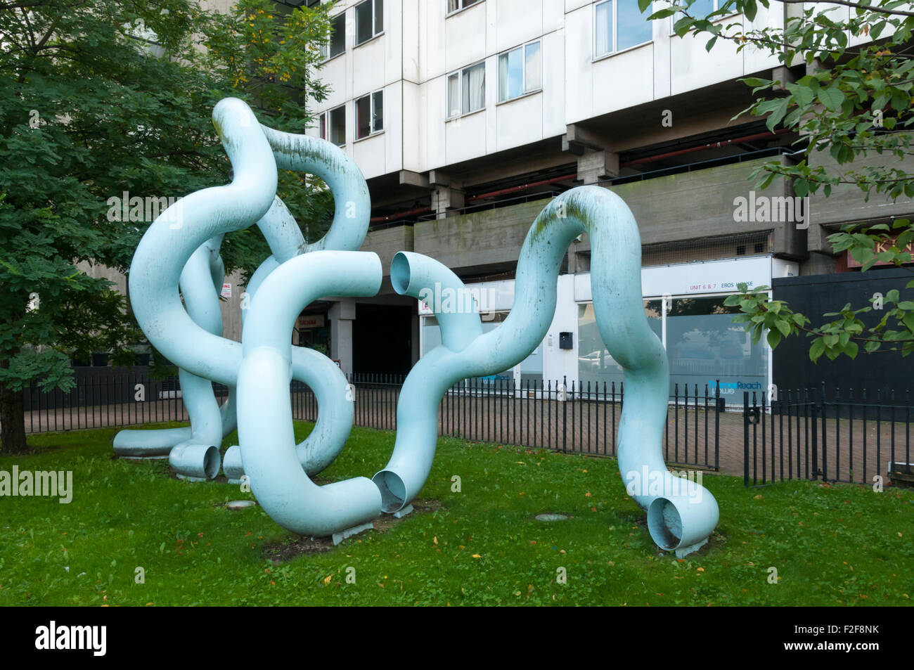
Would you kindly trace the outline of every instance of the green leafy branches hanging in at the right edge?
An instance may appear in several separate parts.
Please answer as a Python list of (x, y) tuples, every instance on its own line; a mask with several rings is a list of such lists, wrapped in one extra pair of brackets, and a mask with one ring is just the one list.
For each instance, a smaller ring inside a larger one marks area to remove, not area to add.
[[(798, 77), (742, 80), (752, 88), (755, 101), (739, 115), (764, 116), (771, 131), (780, 126), (799, 133), (796, 144), (801, 157), (790, 165), (773, 161), (760, 166), (750, 177), (758, 187), (765, 188), (781, 176), (790, 180), (800, 197), (819, 192), (828, 197), (838, 185), (858, 187), (867, 200), (873, 194), (914, 197), (914, 174), (904, 163), (914, 155), (910, 136), (914, 11), (908, 3), (822, 0), (803, 9), (802, 0), (722, 0), (717, 11), (698, 16), (692, 9), (697, 1), (679, 0), (650, 18), (676, 16), (675, 34), (707, 35), (707, 50), (724, 40), (736, 44), (738, 51), (756, 48), (775, 55), (785, 75), (803, 66)], [(650, 5), (650, 0), (638, 2), (642, 11)], [(786, 7), (783, 27), (743, 27), (742, 21), (726, 18), (739, 13), (752, 21), (759, 5)], [(835, 8), (847, 12), (846, 18), (824, 11)], [(828, 154), (834, 165), (816, 160), (819, 154)], [(890, 160), (863, 163), (874, 154)], [(828, 239), (835, 252), (850, 251), (862, 263), (862, 271), (877, 261), (901, 267), (911, 261), (908, 245), (914, 240), (914, 228), (908, 219), (898, 219), (891, 229), (887, 224), (848, 226)], [(914, 281), (906, 286), (912, 287)], [(734, 321), (744, 323), (755, 342), (767, 333), (774, 348), (783, 337), (805, 333), (813, 338), (809, 351), (813, 361), (823, 355), (853, 358), (861, 347), (866, 352), (898, 351), (902, 356), (914, 351), (914, 302), (903, 300), (898, 291), (882, 298), (879, 307), (884, 313), (876, 324), (867, 325), (860, 318), (872, 307), (854, 309), (846, 304), (824, 314), (834, 317), (828, 323), (813, 327), (806, 315), (792, 311), (789, 304), (769, 299), (768, 289), (760, 286), (749, 291), (740, 284), (739, 294), (726, 301), (739, 306), (741, 314)]]

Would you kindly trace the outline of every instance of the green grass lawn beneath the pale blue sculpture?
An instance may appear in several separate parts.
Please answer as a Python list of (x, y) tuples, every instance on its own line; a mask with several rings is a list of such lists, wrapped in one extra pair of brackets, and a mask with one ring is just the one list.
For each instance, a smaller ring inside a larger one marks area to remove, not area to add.
[[(299, 439), (310, 430), (296, 424)], [(265, 547), (295, 537), (260, 507), (225, 508), (250, 494), (173, 479), (165, 461), (115, 459), (115, 432), (33, 436), (35, 453), (0, 458), (7, 472), (72, 470), (74, 488), (69, 505), (0, 497), (0, 604), (909, 605), (914, 595), (910, 489), (746, 489), (707, 475), (720, 524), (680, 561), (658, 555), (614, 460), (446, 438), (420, 494), (440, 501), (435, 511), (274, 564)], [(393, 439), (354, 429), (322, 478), (370, 477)], [(541, 512), (570, 518), (535, 520)]]

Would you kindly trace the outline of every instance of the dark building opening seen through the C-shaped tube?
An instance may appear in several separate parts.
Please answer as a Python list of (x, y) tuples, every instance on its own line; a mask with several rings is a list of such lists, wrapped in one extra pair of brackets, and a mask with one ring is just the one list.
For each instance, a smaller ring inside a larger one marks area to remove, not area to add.
[(356, 304), (353, 372), (406, 375), (412, 363), (412, 312), (404, 305)]

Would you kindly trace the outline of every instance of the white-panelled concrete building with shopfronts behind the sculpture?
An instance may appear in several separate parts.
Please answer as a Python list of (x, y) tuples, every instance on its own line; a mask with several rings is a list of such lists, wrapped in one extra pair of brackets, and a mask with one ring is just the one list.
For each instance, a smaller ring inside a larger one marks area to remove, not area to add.
[[(840, 18), (847, 8), (824, 10)], [(781, 179), (757, 191), (752, 172), (794, 160), (799, 138), (734, 120), (751, 104), (739, 79), (795, 80), (805, 67), (726, 40), (707, 51), (707, 37), (676, 37), (672, 17), (648, 21), (637, 0), (345, 0), (332, 11), (322, 79), (333, 91), (309, 133), (341, 146), (367, 178), (363, 250), (386, 268), (398, 250), (443, 262), (488, 297), (491, 328), (511, 308), (518, 252), (548, 198), (610, 188), (641, 229), (645, 310), (670, 358), (671, 393), (713, 392), (717, 380), (722, 395), (769, 388), (771, 350), (730, 322), (726, 296), (739, 282), (832, 273), (842, 259), (828, 234), (914, 208), (850, 188), (795, 198)], [(801, 11), (760, 8), (751, 26), (780, 27)], [(739, 15), (723, 21), (749, 27)], [(381, 371), (369, 361), (385, 359), (383, 371), (406, 372), (441, 341), (428, 306), (389, 282), (347, 311), (355, 348), (335, 348), (344, 369)], [(410, 334), (396, 361), (369, 335), (378, 314)], [(496, 377), (622, 380), (593, 321), (586, 236), (569, 249), (546, 339)]]

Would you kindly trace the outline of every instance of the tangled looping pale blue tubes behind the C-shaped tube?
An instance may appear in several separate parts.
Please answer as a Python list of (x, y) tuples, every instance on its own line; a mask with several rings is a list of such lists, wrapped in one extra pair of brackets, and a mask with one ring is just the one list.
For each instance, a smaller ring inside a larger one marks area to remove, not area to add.
[[(184, 216), (178, 227), (173, 224), (173, 213), (167, 210), (156, 219), (134, 254), (130, 280), (134, 313), (141, 328), (165, 357), (181, 367), (192, 426), (165, 431), (122, 431), (115, 442), (116, 451), (126, 455), (170, 454), (178, 473), (195, 479), (215, 475), (218, 444), (235, 428), (234, 387), (240, 346), (217, 335), (221, 333), (221, 319), (217, 328), (211, 322), (212, 305), (206, 302), (212, 289), (208, 288), (204, 294), (201, 288), (210, 284), (204, 279), (207, 267), (213, 282), (221, 274), (212, 261), (214, 257), (218, 260), (222, 235), (256, 222), (271, 246), (273, 257), (251, 279), (248, 292), (252, 301), (257, 285), (279, 261), (312, 250), (357, 250), (365, 238), (370, 213), (364, 177), (352, 159), (333, 144), (260, 126), (248, 106), (236, 99), (220, 101), (213, 120), (232, 161), (235, 174), (232, 183), (184, 198), (181, 201)], [(323, 239), (306, 244), (287, 207), (274, 197), (277, 162), (285, 169), (306, 170), (321, 176), (334, 189), (335, 218)], [(265, 203), (268, 203), (266, 207)], [(203, 239), (194, 253), (188, 252), (208, 232), (214, 235)], [(206, 252), (208, 265), (204, 262)], [(184, 263), (178, 265), (181, 259), (185, 259)], [(218, 264), (221, 266), (220, 260)], [(175, 267), (185, 268), (179, 283), (192, 314), (185, 313), (184, 318), (177, 313), (180, 300), (173, 283)], [(165, 268), (169, 271), (164, 271)], [(221, 287), (221, 276), (217, 285)], [(215, 308), (218, 314), (218, 299)], [(242, 312), (242, 319), (244, 316)], [(293, 347), (292, 363), (294, 378), (308, 384), (320, 401), (321, 411), (314, 430), (296, 449), (306, 471), (318, 473), (345, 445), (352, 425), (352, 399), (346, 392), (345, 376), (325, 356)], [(229, 388), (229, 399), (219, 410), (221, 420), (214, 412), (215, 399), (210, 401), (210, 380)], [(349, 429), (345, 431), (339, 430), (338, 420), (329, 419), (346, 415)], [(332, 428), (334, 425), (336, 428)], [(226, 464), (229, 478), (237, 481), (243, 473), (237, 447), (228, 450)]]

